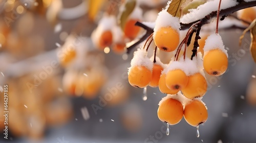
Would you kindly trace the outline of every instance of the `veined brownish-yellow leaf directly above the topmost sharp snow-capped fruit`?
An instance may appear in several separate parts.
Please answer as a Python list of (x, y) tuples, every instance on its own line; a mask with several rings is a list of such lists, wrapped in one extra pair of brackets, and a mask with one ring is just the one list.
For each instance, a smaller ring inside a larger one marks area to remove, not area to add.
[(186, 0), (173, 0), (169, 4), (167, 12), (170, 15), (173, 15), (174, 17), (179, 17), (180, 18), (180, 16), (181, 16), (181, 5), (185, 2), (186, 2)]

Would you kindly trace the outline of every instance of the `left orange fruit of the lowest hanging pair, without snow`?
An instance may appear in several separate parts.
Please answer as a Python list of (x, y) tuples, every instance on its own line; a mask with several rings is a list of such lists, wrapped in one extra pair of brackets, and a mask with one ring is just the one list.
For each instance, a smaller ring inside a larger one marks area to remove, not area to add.
[(183, 117), (183, 106), (176, 99), (166, 99), (159, 105), (157, 115), (162, 122), (169, 125), (178, 124)]

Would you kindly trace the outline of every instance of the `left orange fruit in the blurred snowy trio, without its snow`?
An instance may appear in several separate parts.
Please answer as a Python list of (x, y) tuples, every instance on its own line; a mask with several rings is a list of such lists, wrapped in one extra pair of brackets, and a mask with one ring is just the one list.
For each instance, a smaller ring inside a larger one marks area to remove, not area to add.
[(99, 47), (103, 50), (112, 44), (112, 32), (110, 30), (102, 32), (99, 37)]

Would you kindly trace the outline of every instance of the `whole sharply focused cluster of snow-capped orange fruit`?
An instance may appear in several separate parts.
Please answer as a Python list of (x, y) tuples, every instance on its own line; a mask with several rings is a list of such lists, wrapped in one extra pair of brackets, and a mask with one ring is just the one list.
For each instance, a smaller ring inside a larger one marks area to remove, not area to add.
[[(166, 19), (171, 22), (167, 20), (167, 23), (163, 23)], [(179, 18), (173, 17), (166, 10), (161, 11), (153, 35), (156, 46), (162, 51), (178, 53), (179, 28)], [(129, 82), (140, 88), (158, 86), (162, 93), (167, 94), (159, 104), (158, 117), (169, 125), (179, 123), (183, 115), (191, 126), (198, 127), (207, 120), (207, 108), (201, 101), (207, 91), (204, 70), (211, 76), (224, 74), (228, 66), (228, 55), (219, 34), (209, 35), (200, 51), (204, 51), (204, 56), (197, 52), (193, 60), (186, 58), (185, 53), (178, 60), (176, 56), (179, 55), (176, 54), (167, 66), (159, 58), (153, 63), (144, 49), (134, 53), (128, 73)]]

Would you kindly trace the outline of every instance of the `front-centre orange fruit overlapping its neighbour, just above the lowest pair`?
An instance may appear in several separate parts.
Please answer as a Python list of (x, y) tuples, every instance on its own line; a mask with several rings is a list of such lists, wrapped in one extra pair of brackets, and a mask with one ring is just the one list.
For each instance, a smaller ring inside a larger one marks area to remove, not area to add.
[(166, 86), (174, 91), (179, 91), (186, 87), (188, 76), (181, 69), (168, 71), (165, 78)]

